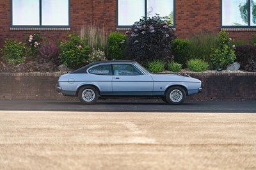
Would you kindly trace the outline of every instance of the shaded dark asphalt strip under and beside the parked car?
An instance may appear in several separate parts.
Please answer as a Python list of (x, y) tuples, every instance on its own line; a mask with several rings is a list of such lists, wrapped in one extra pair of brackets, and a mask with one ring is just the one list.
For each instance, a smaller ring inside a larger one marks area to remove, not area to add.
[(250, 112), (256, 100), (184, 102), (168, 105), (162, 100), (99, 100), (83, 105), (78, 100), (0, 100), (0, 111), (90, 111), (90, 112)]

